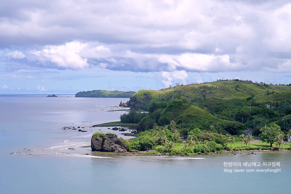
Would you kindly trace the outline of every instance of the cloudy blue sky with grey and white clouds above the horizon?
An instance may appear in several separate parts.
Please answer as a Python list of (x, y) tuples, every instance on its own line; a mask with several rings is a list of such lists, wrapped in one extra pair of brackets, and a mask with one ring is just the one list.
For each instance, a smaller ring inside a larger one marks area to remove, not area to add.
[(291, 83), (290, 1), (0, 3), (0, 94)]

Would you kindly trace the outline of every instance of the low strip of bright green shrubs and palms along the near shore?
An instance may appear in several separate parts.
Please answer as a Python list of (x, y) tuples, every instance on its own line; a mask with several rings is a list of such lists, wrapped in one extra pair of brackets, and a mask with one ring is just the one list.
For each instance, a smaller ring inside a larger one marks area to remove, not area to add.
[[(127, 140), (127, 146), (130, 150), (148, 151), (147, 154), (207, 154), (210, 152), (222, 152), (224, 150), (272, 150), (272, 149), (290, 149), (289, 144), (283, 142), (281, 133), (268, 134), (268, 138), (274, 138), (272, 143), (276, 144), (275, 148), (268, 145), (268, 140), (263, 142), (252, 142), (254, 137), (249, 134), (232, 136), (229, 133), (215, 133), (195, 128), (189, 131), (186, 139), (181, 139), (181, 134), (177, 130), (176, 123), (172, 120), (169, 125), (159, 127), (155, 125), (153, 129), (142, 131), (134, 139)], [(261, 130), (280, 127), (271, 124), (268, 127), (262, 127)], [(290, 132), (291, 133), (291, 130)], [(262, 134), (262, 138), (263, 134)], [(266, 143), (264, 143), (266, 142)], [(269, 142), (270, 143), (270, 142)], [(271, 144), (272, 144), (271, 143)], [(139, 152), (141, 153), (141, 152)]]

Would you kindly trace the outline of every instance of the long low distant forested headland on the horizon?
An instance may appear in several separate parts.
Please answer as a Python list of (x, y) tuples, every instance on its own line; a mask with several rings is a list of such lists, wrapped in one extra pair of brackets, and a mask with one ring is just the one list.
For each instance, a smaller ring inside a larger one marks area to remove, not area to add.
[(75, 97), (92, 97), (92, 98), (130, 98), (135, 92), (123, 92), (123, 91), (107, 91), (107, 90), (93, 90), (78, 92)]

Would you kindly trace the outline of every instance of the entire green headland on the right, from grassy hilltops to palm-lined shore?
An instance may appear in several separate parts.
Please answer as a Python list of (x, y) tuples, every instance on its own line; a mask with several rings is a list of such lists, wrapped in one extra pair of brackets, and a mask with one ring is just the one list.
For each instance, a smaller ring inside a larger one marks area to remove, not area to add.
[[(176, 155), (290, 150), (290, 86), (235, 79), (142, 89), (120, 103), (130, 108), (120, 115), (120, 122), (104, 124), (136, 124), (136, 138), (121, 140), (127, 148), (97, 150)], [(103, 136), (99, 144), (109, 142), (108, 135)], [(113, 139), (112, 145), (119, 145), (117, 137)], [(94, 143), (91, 148), (96, 150)]]

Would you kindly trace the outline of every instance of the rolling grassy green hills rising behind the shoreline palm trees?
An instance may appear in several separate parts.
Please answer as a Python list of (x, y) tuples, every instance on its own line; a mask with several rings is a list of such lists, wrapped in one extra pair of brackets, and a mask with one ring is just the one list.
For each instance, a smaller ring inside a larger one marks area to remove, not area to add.
[(265, 124), (291, 114), (291, 87), (220, 80), (158, 91), (140, 90), (127, 105), (131, 110), (149, 111), (139, 123), (139, 130), (174, 120), (181, 128), (209, 130), (212, 125), (222, 132), (238, 133), (247, 128), (258, 132)]

